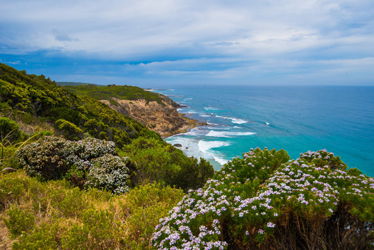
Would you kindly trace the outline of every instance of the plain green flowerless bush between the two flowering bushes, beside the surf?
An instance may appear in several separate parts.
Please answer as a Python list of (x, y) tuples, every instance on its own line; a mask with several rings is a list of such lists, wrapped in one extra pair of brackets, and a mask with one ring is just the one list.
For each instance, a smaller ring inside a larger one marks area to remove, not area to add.
[(188, 158), (171, 144), (137, 138), (124, 147), (124, 156), (137, 163), (136, 183), (159, 181), (183, 190), (200, 188), (214, 174), (210, 163)]

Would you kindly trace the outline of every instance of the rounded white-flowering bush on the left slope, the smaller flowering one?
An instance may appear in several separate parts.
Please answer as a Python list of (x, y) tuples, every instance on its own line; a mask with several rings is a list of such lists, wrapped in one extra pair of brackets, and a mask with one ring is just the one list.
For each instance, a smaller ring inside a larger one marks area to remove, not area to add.
[(27, 174), (42, 180), (66, 176), (80, 187), (127, 192), (129, 175), (135, 167), (128, 158), (114, 154), (114, 142), (95, 138), (72, 142), (44, 137), (19, 149), (17, 159)]

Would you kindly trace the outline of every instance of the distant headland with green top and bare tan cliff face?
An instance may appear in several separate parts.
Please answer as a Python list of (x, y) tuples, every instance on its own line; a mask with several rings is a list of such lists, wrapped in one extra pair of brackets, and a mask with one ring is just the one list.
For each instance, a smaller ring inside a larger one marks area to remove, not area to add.
[(196, 123), (178, 114), (178, 103), (142, 88), (128, 85), (67, 85), (62, 88), (93, 97), (163, 137), (187, 131)]

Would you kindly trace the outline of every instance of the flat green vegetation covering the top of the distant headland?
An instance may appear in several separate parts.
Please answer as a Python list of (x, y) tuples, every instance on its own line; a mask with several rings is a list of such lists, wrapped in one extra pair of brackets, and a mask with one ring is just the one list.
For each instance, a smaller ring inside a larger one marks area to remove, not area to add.
[(143, 90), (142, 88), (128, 85), (110, 85), (110, 86), (98, 86), (92, 84), (86, 85), (65, 85), (62, 88), (69, 90), (76, 94), (83, 94), (90, 97), (93, 97), (96, 100), (108, 100), (112, 105), (118, 105), (117, 101), (113, 98), (122, 99), (122, 100), (137, 100), (144, 99), (148, 101), (157, 101), (160, 104), (162, 98), (160, 94), (154, 93), (151, 91)]

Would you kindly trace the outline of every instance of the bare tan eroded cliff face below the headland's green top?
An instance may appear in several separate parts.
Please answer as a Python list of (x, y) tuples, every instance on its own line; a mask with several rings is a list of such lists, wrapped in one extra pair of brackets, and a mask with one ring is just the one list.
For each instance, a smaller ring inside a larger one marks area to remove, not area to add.
[(178, 103), (162, 97), (163, 104), (157, 101), (121, 100), (113, 98), (119, 105), (112, 105), (108, 100), (101, 100), (117, 112), (132, 117), (162, 137), (187, 131), (196, 125), (196, 121), (183, 117), (176, 110)]

